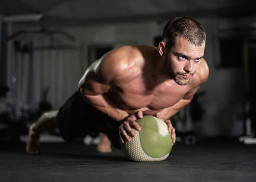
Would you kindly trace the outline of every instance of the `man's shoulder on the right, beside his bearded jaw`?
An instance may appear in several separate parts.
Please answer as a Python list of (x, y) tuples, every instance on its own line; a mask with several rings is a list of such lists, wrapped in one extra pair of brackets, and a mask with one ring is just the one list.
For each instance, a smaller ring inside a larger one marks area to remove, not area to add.
[(192, 77), (193, 79), (191, 79), (189, 83), (192, 87), (198, 87), (207, 80), (208, 76), (209, 76), (209, 67), (205, 59), (202, 59), (197, 72)]

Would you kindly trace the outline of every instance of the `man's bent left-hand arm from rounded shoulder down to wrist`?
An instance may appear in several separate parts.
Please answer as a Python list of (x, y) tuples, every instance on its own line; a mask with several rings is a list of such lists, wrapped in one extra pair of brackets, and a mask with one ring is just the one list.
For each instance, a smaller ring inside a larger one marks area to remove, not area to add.
[(130, 114), (113, 103), (108, 92), (137, 76), (139, 67), (132, 62), (131, 51), (130, 46), (110, 51), (95, 61), (79, 82), (79, 92), (85, 101), (116, 121), (122, 121)]

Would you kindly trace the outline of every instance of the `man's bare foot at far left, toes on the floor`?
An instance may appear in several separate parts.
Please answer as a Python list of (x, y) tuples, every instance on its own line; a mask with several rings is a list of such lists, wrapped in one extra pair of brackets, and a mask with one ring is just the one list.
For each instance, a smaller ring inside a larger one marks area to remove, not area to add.
[(27, 154), (39, 154), (40, 153), (40, 138), (39, 134), (33, 129), (34, 124), (29, 127), (28, 140), (26, 144)]

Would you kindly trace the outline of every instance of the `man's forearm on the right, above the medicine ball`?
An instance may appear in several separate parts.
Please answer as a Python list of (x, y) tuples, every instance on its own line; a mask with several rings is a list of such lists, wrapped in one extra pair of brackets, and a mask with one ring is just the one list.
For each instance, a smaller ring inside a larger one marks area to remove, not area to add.
[(191, 102), (191, 99), (181, 99), (178, 103), (175, 105), (165, 108), (160, 111), (160, 114), (163, 118), (169, 119), (174, 114), (179, 112), (182, 108), (184, 108), (186, 105), (188, 105)]

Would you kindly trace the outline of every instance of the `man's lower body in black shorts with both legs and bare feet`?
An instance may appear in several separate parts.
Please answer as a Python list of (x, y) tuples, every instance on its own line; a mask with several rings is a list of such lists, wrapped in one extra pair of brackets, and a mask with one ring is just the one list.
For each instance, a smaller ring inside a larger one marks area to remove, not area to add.
[[(93, 119), (93, 120), (92, 120)], [(77, 136), (90, 132), (101, 132), (100, 143), (97, 149), (100, 152), (111, 152), (111, 143), (119, 148), (118, 126), (116, 121), (99, 110), (88, 105), (76, 92), (59, 111), (50, 111), (43, 114), (29, 130), (27, 153), (39, 153), (39, 135), (43, 130), (58, 127), (60, 135), (66, 141), (72, 141)], [(109, 141), (109, 139), (110, 141)], [(117, 142), (116, 142), (117, 141)]]

